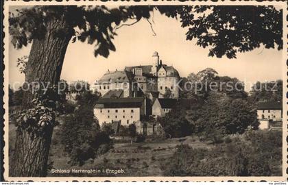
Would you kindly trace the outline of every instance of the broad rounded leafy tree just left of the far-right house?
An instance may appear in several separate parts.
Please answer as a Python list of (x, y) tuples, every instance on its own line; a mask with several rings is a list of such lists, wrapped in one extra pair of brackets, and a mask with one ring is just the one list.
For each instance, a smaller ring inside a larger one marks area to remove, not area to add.
[(211, 92), (206, 102), (197, 110), (188, 113), (189, 121), (196, 132), (220, 130), (222, 134), (242, 134), (248, 126), (259, 125), (256, 110), (245, 99), (232, 99), (222, 93)]

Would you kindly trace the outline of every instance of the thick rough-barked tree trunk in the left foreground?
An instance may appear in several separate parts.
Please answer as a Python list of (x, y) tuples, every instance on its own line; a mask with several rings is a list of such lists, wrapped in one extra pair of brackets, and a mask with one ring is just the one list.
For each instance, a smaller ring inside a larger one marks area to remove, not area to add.
[[(47, 22), (47, 32), (43, 38), (34, 39), (29, 54), (29, 60), (25, 69), (25, 88), (27, 83), (38, 82), (40, 89), (47, 84), (58, 84), (62, 71), (64, 56), (73, 34), (73, 28), (64, 21), (63, 17), (51, 18)], [(43, 84), (41, 84), (43, 83)], [(23, 111), (33, 110), (31, 101), (37, 98), (38, 94), (31, 90), (24, 92)], [(52, 114), (54, 115), (54, 114)], [(37, 122), (36, 122), (37, 123)], [(40, 120), (38, 120), (40, 123)], [(42, 122), (41, 122), (42, 123)], [(21, 126), (17, 121), (16, 143), (13, 155), (11, 175), (14, 177), (43, 177), (47, 175), (47, 161), (51, 136), (53, 132), (55, 116), (51, 121), (45, 123), (45, 128), (40, 134), (31, 132), (37, 124), (25, 123)], [(27, 124), (30, 124), (27, 127)], [(29, 128), (29, 129), (27, 129)]]

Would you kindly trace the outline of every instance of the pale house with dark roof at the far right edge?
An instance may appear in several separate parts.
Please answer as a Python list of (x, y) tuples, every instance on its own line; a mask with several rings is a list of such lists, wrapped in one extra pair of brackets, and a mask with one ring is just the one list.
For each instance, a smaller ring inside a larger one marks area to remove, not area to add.
[(283, 106), (280, 101), (260, 102), (257, 105), (259, 129), (277, 130), (282, 128)]

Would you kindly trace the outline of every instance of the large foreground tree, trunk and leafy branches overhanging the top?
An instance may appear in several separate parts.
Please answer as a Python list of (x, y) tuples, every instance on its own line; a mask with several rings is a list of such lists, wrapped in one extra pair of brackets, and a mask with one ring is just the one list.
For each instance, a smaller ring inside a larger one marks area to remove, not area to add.
[[(123, 22), (134, 19), (134, 23), (137, 23), (142, 18), (149, 22), (152, 10), (159, 10), (162, 14), (173, 18), (179, 15), (182, 27), (189, 27), (187, 40), (197, 38), (197, 45), (213, 46), (209, 56), (226, 55), (228, 58), (235, 58), (236, 49), (239, 52), (251, 51), (261, 44), (266, 48), (273, 48), (276, 44), (278, 49), (282, 49), (282, 10), (276, 10), (271, 6), (124, 6), (109, 9), (103, 5), (94, 7), (47, 5), (25, 8), (19, 10), (16, 16), (10, 14), (9, 17), (12, 45), (21, 49), (32, 42), (29, 59), (23, 70), (27, 82), (25, 86), (30, 88), (23, 95), (23, 108), (33, 109), (35, 105), (31, 102), (37, 101), (45, 94), (44, 86), (53, 86), (54, 90), (58, 88), (64, 56), (70, 41), (80, 40), (91, 45), (95, 44), (95, 56), (107, 58), (110, 51), (116, 50), (112, 39), (117, 29), (129, 25)], [(202, 15), (194, 16), (199, 13)], [(213, 33), (210, 33), (211, 29)], [(40, 88), (36, 92), (31, 90), (35, 82), (40, 83)], [(53, 115), (53, 110), (49, 111)], [(46, 143), (47, 147), (41, 153), (44, 158), (40, 158), (40, 153), (31, 148), (23, 148), (20, 145), (19, 148), (16, 147), (15, 153), (20, 153), (18, 151), (24, 153), (15, 157), (17, 159), (14, 165), (23, 168), (20, 168), (21, 171), (15, 168), (12, 175), (45, 175), (53, 128), (47, 129), (48, 131), (49, 133), (44, 134), (45, 137), (43, 135), (34, 138), (43, 141), (40, 143)], [(24, 136), (21, 134), (23, 132), (27, 132), (24, 127), (22, 130), (17, 130), (16, 140), (25, 140), (21, 138)], [(23, 146), (31, 146), (31, 140), (25, 142)], [(25, 156), (30, 155), (41, 160), (29, 161)], [(25, 164), (21, 163), (23, 161)], [(29, 169), (26, 167), (30, 166), (39, 168), (28, 173)]]

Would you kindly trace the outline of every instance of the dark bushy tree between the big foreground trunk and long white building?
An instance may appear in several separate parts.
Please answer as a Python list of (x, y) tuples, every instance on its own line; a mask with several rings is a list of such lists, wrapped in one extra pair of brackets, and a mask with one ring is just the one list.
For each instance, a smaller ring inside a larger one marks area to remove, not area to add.
[(60, 130), (64, 133), (60, 135), (61, 143), (72, 165), (82, 166), (86, 160), (112, 148), (112, 140), (99, 130), (91, 106), (80, 106), (74, 114), (66, 116)]

